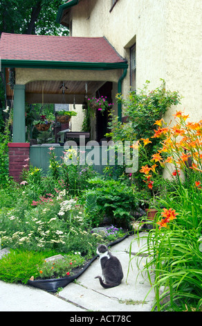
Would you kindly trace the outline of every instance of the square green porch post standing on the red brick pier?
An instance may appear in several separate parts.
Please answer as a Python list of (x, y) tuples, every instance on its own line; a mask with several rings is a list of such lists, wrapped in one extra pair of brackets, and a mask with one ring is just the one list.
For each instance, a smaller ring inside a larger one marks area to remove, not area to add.
[(25, 85), (15, 85), (13, 103), (12, 142), (26, 142)]

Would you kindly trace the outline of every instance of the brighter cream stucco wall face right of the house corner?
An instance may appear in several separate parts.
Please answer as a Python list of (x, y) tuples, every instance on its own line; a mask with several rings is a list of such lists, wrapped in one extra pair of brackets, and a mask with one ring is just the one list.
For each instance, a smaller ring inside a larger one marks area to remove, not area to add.
[(167, 1), (166, 20), (167, 87), (184, 96), (181, 110), (190, 114), (190, 121), (199, 121), (202, 119), (202, 1)]

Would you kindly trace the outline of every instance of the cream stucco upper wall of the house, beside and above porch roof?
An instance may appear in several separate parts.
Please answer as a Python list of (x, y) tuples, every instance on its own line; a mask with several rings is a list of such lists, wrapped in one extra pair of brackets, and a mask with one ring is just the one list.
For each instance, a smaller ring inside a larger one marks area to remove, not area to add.
[[(154, 89), (163, 78), (167, 89), (184, 96), (178, 109), (193, 121), (201, 119), (202, 1), (119, 0), (110, 8), (111, 0), (82, 0), (72, 8), (72, 35), (105, 36), (128, 60), (136, 39), (137, 88), (150, 80)], [(129, 92), (129, 73), (122, 92)], [(167, 112), (167, 120), (174, 110)]]

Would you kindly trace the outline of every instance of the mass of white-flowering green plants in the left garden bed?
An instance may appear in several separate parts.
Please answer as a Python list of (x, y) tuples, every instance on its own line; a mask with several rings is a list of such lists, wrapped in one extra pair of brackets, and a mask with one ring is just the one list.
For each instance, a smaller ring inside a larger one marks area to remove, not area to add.
[(91, 233), (86, 232), (82, 207), (77, 200), (66, 199), (67, 196), (64, 189), (56, 198), (41, 197), (30, 205), (25, 193), (15, 209), (1, 209), (1, 248), (93, 255), (96, 242)]

